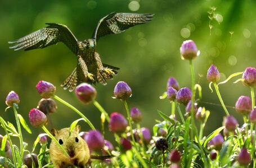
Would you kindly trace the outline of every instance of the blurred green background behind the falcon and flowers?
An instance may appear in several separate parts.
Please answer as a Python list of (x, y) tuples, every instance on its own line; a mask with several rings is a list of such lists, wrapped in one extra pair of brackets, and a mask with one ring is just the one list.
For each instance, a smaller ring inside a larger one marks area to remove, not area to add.
[[(213, 6), (216, 8), (214, 13), (210, 12)], [(155, 120), (161, 120), (156, 110), (170, 114), (168, 100), (159, 99), (166, 90), (168, 78), (175, 77), (180, 87), (191, 87), (188, 61), (181, 60), (179, 47), (182, 41), (192, 39), (201, 52), (194, 60), (196, 83), (203, 87), (203, 101), (215, 104), (199, 103), (211, 111), (205, 127), (207, 135), (222, 125), (224, 111), (219, 106), (215, 92), (211, 93), (208, 88), (206, 72), (214, 63), (223, 81), (232, 73), (255, 67), (255, 8), (256, 2), (252, 0), (0, 0), (0, 115), (15, 124), (12, 109), (5, 112), (6, 96), (14, 90), (21, 100), (18, 112), (29, 124), (29, 110), (35, 108), (41, 99), (35, 85), (44, 80), (53, 83), (57, 88), (57, 96), (81, 110), (100, 129), (100, 112), (95, 106), (82, 104), (74, 92), (60, 87), (77, 64), (77, 58), (64, 44), (15, 52), (8, 48), (11, 45), (7, 42), (39, 30), (47, 22), (67, 25), (77, 39), (84, 40), (91, 38), (98, 20), (113, 11), (155, 13), (154, 20), (145, 25), (100, 39), (97, 50), (102, 62), (119, 67), (120, 71), (106, 86), (95, 86), (96, 100), (107, 113), (119, 112), (126, 116), (123, 103), (111, 98), (115, 84), (125, 81), (133, 92), (128, 99), (129, 108), (136, 106), (140, 109), (143, 115), (141, 126), (152, 128)], [(211, 30), (209, 25), (212, 25)], [(250, 90), (240, 82), (233, 84), (236, 79), (221, 85), (219, 89), (225, 104), (231, 106), (228, 108), (230, 114), (241, 125), (242, 116), (232, 107), (240, 95), (249, 96)], [(57, 105), (57, 113), (51, 115), (55, 128), (69, 127), (71, 122), (80, 117), (59, 102)], [(86, 123), (79, 124), (83, 130), (89, 129)], [(24, 141), (33, 142), (37, 134), (43, 132), (41, 128), (32, 128), (32, 131), (32, 135), (23, 131)], [(0, 133), (3, 134), (2, 128)], [(113, 139), (113, 136), (107, 131), (106, 138)], [(28, 150), (31, 148), (30, 143)]]

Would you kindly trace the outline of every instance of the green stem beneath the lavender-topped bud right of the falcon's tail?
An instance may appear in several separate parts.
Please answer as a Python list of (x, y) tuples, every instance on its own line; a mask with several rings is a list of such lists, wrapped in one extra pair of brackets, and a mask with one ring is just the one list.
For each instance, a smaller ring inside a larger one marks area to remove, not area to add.
[(132, 142), (133, 142), (133, 151), (134, 153), (136, 153), (137, 157), (138, 157), (138, 160), (141, 162), (142, 166), (143, 167), (147, 167), (147, 164), (146, 162), (142, 159), (140, 153), (138, 152), (137, 150), (137, 146), (136, 146), (136, 142), (135, 142), (135, 139), (134, 139), (134, 136), (133, 136), (133, 132), (132, 132), (132, 119), (131, 119), (131, 115), (130, 115), (130, 112), (129, 112), (129, 109), (128, 109), (128, 105), (127, 105), (127, 101), (124, 100), (124, 106), (125, 106), (125, 109), (126, 109), (126, 112), (127, 112), (127, 116), (128, 116), (128, 122), (129, 122), (129, 127), (130, 127), (130, 133), (131, 133), (131, 136), (132, 136)]

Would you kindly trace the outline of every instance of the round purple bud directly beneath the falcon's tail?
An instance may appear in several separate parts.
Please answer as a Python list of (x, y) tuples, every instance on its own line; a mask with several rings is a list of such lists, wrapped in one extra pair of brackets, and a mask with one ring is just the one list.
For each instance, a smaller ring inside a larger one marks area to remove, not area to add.
[(96, 89), (88, 83), (81, 83), (75, 88), (75, 94), (84, 104), (89, 104), (97, 95)]

